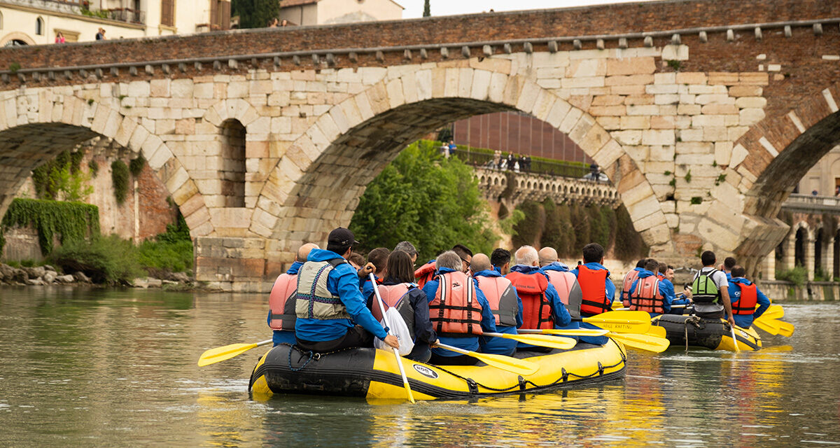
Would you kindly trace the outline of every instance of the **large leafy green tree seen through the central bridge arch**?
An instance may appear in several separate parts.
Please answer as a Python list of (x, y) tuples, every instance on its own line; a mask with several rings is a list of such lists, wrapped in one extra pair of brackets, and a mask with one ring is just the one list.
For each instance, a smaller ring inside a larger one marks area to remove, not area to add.
[(490, 253), (486, 203), (470, 166), (444, 159), (431, 142), (409, 145), (370, 182), (350, 222), (363, 250), (411, 241), (418, 260), (455, 244)]

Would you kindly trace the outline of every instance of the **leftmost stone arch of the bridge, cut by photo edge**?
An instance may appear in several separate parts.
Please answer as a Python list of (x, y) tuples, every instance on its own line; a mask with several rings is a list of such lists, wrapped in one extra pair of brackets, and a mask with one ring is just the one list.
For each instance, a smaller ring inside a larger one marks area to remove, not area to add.
[[(24, 92), (25, 93), (25, 92)], [(181, 209), (193, 238), (213, 233), (201, 193), (165, 141), (117, 108), (71, 95), (41, 92), (3, 99), (0, 107), (0, 216), (30, 171), (63, 150), (97, 136), (142, 154)]]

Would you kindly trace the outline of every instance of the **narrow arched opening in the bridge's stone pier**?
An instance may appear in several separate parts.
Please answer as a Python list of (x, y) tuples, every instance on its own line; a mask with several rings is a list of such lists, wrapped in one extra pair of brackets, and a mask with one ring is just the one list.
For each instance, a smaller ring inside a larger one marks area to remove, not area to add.
[(222, 195), (225, 207), (245, 206), (245, 127), (238, 119), (222, 124)]

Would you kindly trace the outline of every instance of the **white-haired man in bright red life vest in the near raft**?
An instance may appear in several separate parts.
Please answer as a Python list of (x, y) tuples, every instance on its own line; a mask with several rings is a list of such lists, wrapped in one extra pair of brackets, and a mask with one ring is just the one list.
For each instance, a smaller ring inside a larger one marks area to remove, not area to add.
[[(516, 252), (516, 266), (507, 279), (522, 300), (522, 329), (555, 329), (571, 323), (571, 316), (549, 283), (549, 278), (539, 269), (539, 255), (530, 245), (523, 245)], [(520, 349), (539, 350), (533, 345), (519, 344)]]

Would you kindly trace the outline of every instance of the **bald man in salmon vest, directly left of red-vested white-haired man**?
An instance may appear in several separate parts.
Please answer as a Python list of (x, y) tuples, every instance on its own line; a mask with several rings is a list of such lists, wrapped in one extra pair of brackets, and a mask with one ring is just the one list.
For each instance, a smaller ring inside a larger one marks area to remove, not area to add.
[[(510, 280), (501, 277), (493, 269), (490, 258), (484, 254), (475, 254), (470, 261), (475, 287), (490, 303), (493, 317), (496, 318), (496, 332), (516, 335), (517, 327), (522, 326), (522, 300), (519, 300), (516, 288)], [(512, 356), (517, 350), (517, 341), (502, 338), (481, 337), (481, 352), (494, 355)]]

